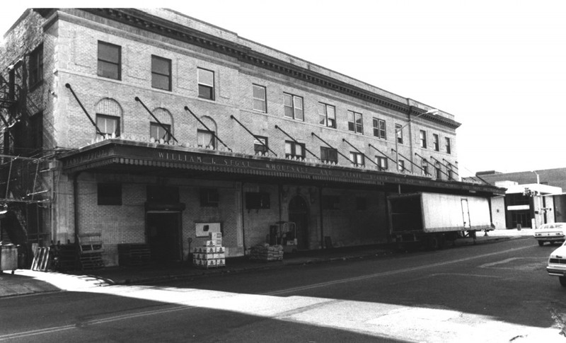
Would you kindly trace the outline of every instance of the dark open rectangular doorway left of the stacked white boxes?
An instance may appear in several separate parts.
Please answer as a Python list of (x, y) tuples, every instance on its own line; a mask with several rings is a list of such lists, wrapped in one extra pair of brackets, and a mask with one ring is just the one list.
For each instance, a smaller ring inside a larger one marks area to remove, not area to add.
[(146, 236), (151, 260), (174, 262), (181, 259), (180, 212), (147, 212)]

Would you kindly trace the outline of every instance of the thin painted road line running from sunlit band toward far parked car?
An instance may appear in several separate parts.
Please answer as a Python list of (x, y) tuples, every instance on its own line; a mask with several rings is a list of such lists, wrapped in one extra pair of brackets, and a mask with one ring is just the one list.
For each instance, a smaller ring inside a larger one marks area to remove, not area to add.
[(502, 251), (497, 251), (497, 252), (490, 252), (488, 254), (483, 254), (483, 255), (478, 255), (478, 256), (473, 256), (473, 257), (461, 258), (461, 259), (458, 259), (458, 260), (451, 260), (451, 261), (438, 262), (438, 263), (432, 263), (432, 264), (424, 264), (424, 265), (419, 266), (419, 267), (409, 267), (409, 268), (403, 268), (403, 269), (396, 269), (396, 270), (392, 270), (390, 272), (379, 272), (379, 273), (374, 273), (374, 274), (362, 275), (361, 277), (349, 277), (349, 278), (346, 278), (346, 279), (337, 279), (337, 280), (333, 280), (333, 281), (320, 282), (319, 284), (311, 284), (311, 285), (306, 285), (306, 286), (292, 287), (290, 289), (279, 289), (278, 291), (270, 291), (270, 292), (267, 292), (267, 293), (262, 293), (262, 295), (277, 296), (277, 295), (281, 295), (281, 294), (285, 294), (285, 293), (294, 293), (294, 292), (298, 292), (298, 291), (306, 291), (308, 289), (317, 289), (317, 288), (320, 288), (320, 287), (333, 286), (335, 284), (345, 284), (347, 282), (354, 282), (354, 281), (360, 281), (360, 280), (365, 280), (365, 279), (372, 279), (374, 277), (386, 277), (386, 276), (389, 276), (389, 275), (403, 274), (403, 273), (407, 273), (407, 272), (415, 272), (415, 271), (420, 270), (420, 269), (427, 269), (427, 268), (432, 268), (432, 267), (441, 267), (441, 266), (448, 265), (448, 264), (466, 262), (466, 261), (469, 261), (469, 260), (475, 260), (475, 259), (478, 259), (478, 258), (504, 254), (504, 253), (507, 253), (507, 252), (514, 252), (514, 251), (523, 250), (523, 249), (527, 249), (527, 248), (531, 248), (531, 247), (526, 246), (526, 247), (521, 247), (521, 248), (512, 248), (512, 249), (507, 249), (507, 250), (502, 250)]

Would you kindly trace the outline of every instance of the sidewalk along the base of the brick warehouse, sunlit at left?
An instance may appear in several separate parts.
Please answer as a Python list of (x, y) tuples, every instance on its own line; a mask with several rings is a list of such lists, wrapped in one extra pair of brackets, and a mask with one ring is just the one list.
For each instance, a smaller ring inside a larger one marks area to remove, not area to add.
[[(484, 236), (483, 233), (478, 233), (475, 243), (532, 237), (532, 235), (533, 230), (531, 229), (523, 229), (521, 231), (516, 229), (495, 230), (487, 233), (487, 236)], [(472, 238), (456, 240), (456, 245), (472, 244), (474, 244)], [(384, 245), (371, 245), (296, 252), (284, 255), (284, 259), (277, 262), (258, 262), (249, 260), (248, 257), (229, 257), (226, 259), (226, 267), (212, 269), (199, 269), (193, 267), (189, 262), (166, 266), (108, 267), (69, 274), (17, 269), (13, 275), (10, 272), (0, 274), (0, 298), (53, 291), (77, 291), (83, 288), (109, 286), (112, 284), (141, 284), (173, 279), (190, 279), (210, 274), (228, 274), (335, 260), (371, 258), (391, 255), (393, 252), (394, 250)]]

